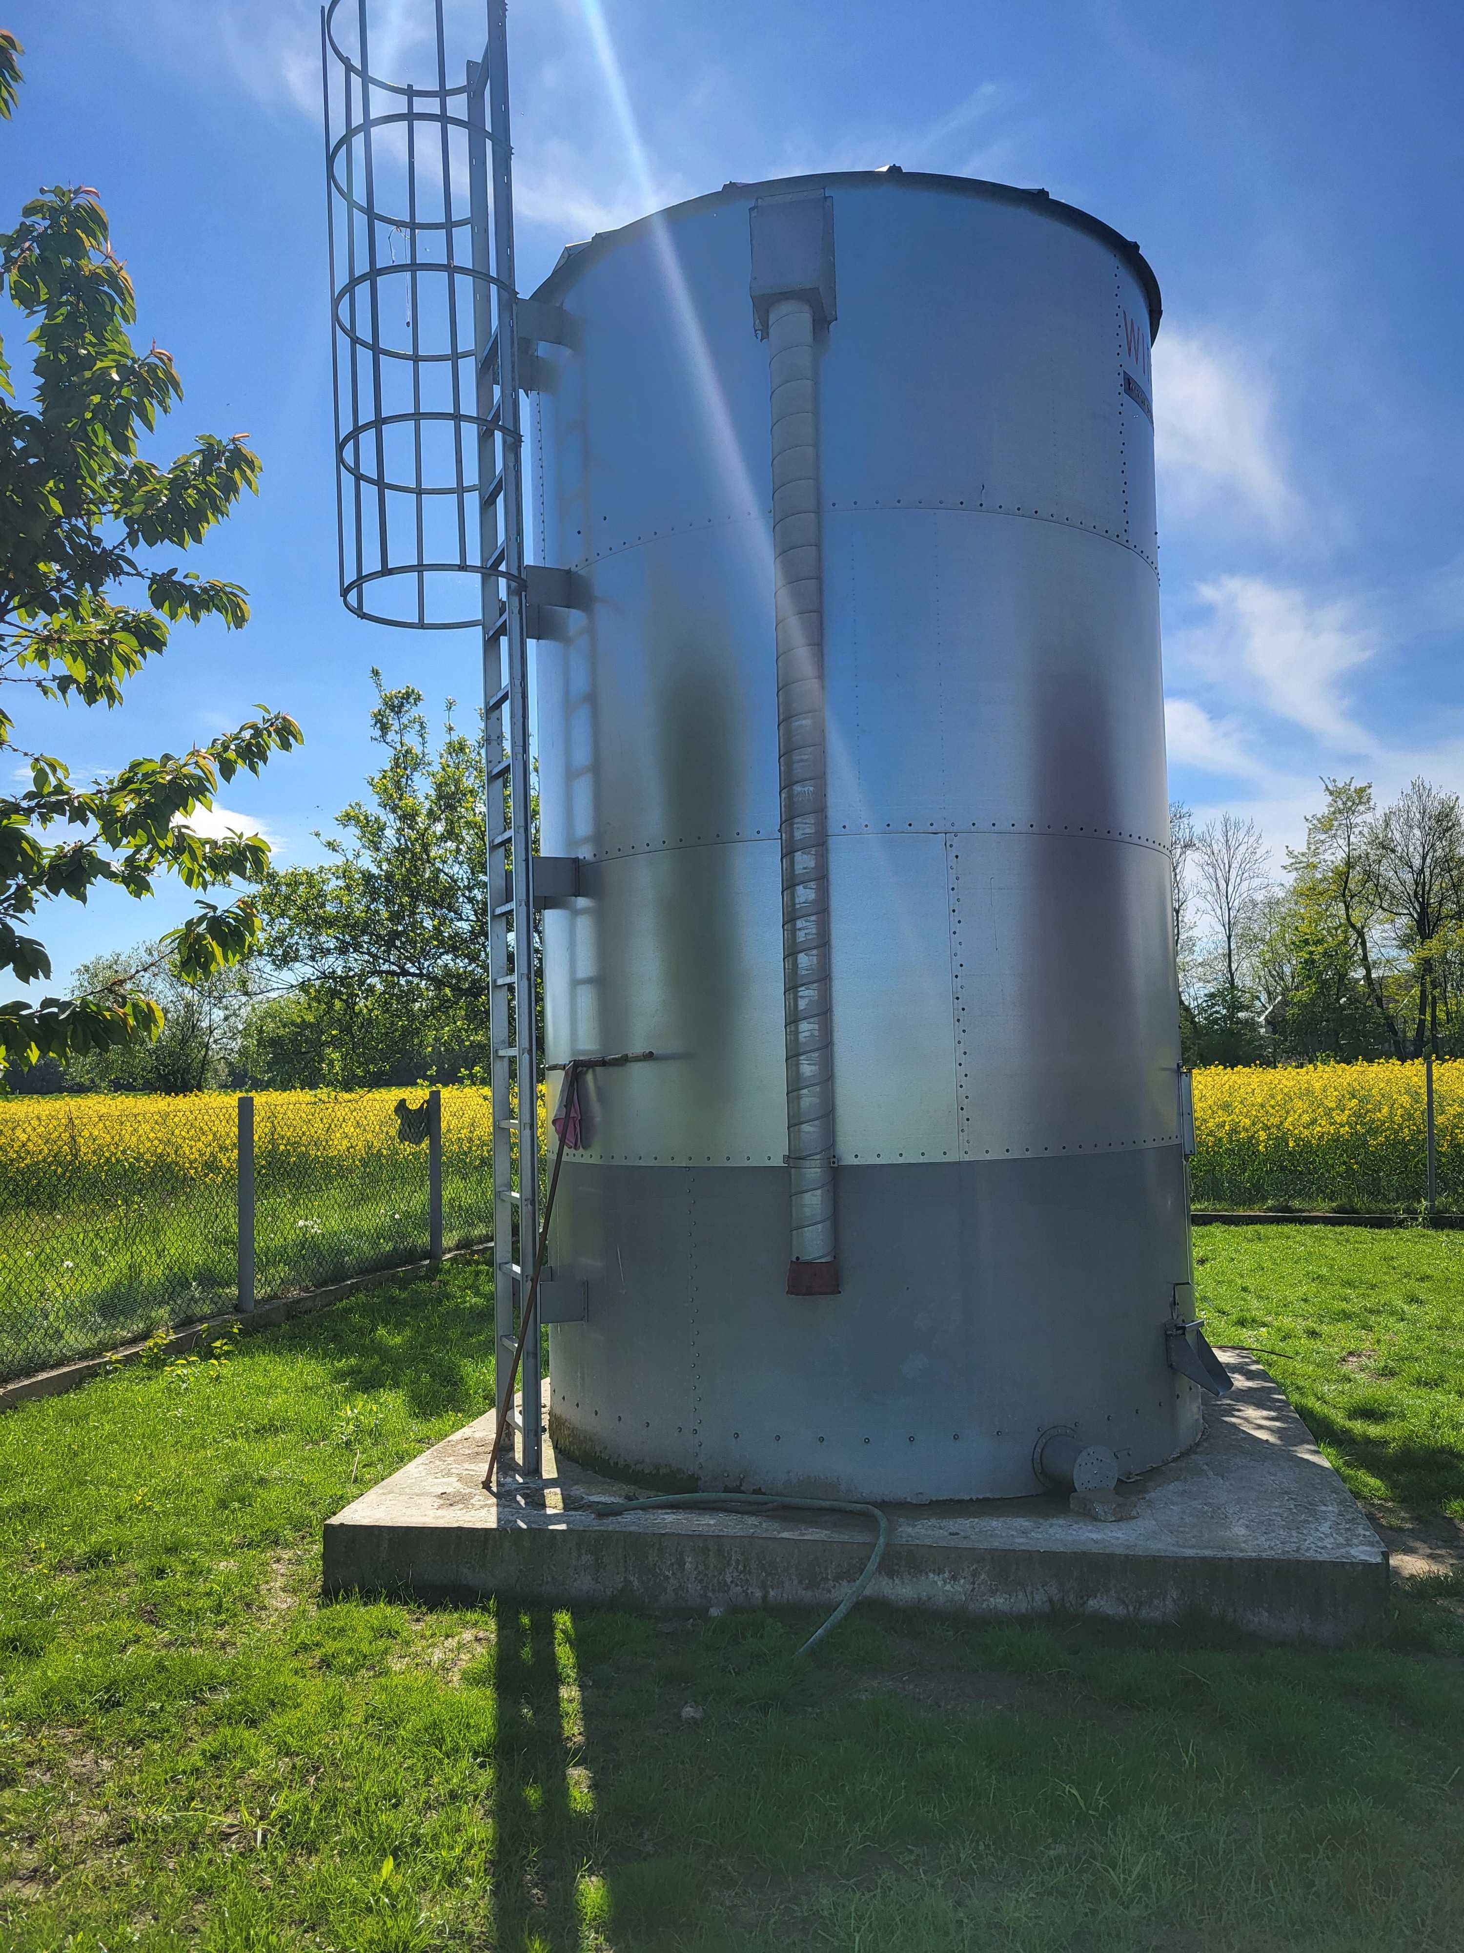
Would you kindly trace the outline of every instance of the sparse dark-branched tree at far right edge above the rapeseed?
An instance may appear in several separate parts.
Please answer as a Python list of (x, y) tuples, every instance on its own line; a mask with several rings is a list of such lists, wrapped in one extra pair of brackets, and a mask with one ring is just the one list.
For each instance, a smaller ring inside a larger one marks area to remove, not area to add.
[[(1439, 1041), (1439, 963), (1464, 922), (1464, 812), (1458, 795), (1413, 779), (1370, 824), (1366, 859), (1378, 908), (1413, 967), (1411, 1057)], [(1402, 1055), (1402, 1053), (1400, 1053)]]

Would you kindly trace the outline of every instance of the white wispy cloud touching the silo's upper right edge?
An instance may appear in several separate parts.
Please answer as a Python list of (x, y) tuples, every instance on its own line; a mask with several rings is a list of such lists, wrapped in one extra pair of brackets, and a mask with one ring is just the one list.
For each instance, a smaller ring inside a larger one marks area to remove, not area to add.
[(1241, 518), (1277, 537), (1296, 525), (1302, 502), (1257, 359), (1216, 334), (1165, 324), (1154, 342), (1154, 396), (1161, 518)]

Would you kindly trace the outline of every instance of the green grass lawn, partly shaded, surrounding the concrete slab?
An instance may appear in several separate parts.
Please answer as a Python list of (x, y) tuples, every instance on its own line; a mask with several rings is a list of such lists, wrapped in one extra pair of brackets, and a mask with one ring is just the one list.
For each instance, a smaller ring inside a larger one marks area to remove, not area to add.
[[(1464, 1510), (1464, 1242), (1197, 1248), (1359, 1490)], [(814, 1615), (322, 1605), (320, 1521), (490, 1402), (486, 1283), (0, 1420), (6, 1949), (1464, 1943), (1450, 1582), (1349, 1652), (861, 1607), (804, 1664)]]

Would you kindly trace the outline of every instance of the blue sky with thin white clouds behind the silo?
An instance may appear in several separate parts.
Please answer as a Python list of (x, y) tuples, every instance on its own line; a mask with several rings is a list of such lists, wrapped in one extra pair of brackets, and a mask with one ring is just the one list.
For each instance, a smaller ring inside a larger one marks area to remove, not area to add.
[[(410, 66), (426, 0), (373, 8)], [(451, 20), (467, 57), (480, 4)], [(336, 598), (316, 8), (12, 0), (4, 21), (25, 43), (4, 211), (96, 186), (139, 338), (183, 375), (162, 445), (248, 430), (265, 465), (195, 553), (246, 584), (248, 631), (180, 629), (121, 713), (72, 711), (51, 744), (111, 768), (283, 707), (306, 746), (224, 803), (306, 857), (369, 764), (373, 664), (431, 701), (476, 691), (470, 635)], [(818, 168), (1040, 184), (1136, 236), (1165, 301), (1171, 789), (1253, 814), (1277, 855), (1320, 773), (1464, 789), (1458, 0), (517, 0), (509, 31), (523, 289), (654, 203)], [(185, 906), (61, 902), (41, 934), (64, 976)]]

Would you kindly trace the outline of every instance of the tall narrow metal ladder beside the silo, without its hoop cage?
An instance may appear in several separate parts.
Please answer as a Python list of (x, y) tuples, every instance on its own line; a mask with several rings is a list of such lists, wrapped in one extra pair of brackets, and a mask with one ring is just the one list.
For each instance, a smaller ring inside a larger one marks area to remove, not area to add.
[[(513, 166), (508, 119), (506, 0), (490, 0), (488, 49), (468, 64), (478, 508), (482, 531), (482, 701), (488, 807), (488, 965), (494, 1092), (496, 1410), (511, 1389), (519, 1307), (539, 1238), (539, 1041), (533, 955), (523, 430), (513, 283)], [(517, 1461), (543, 1467), (539, 1330), (523, 1338)]]

